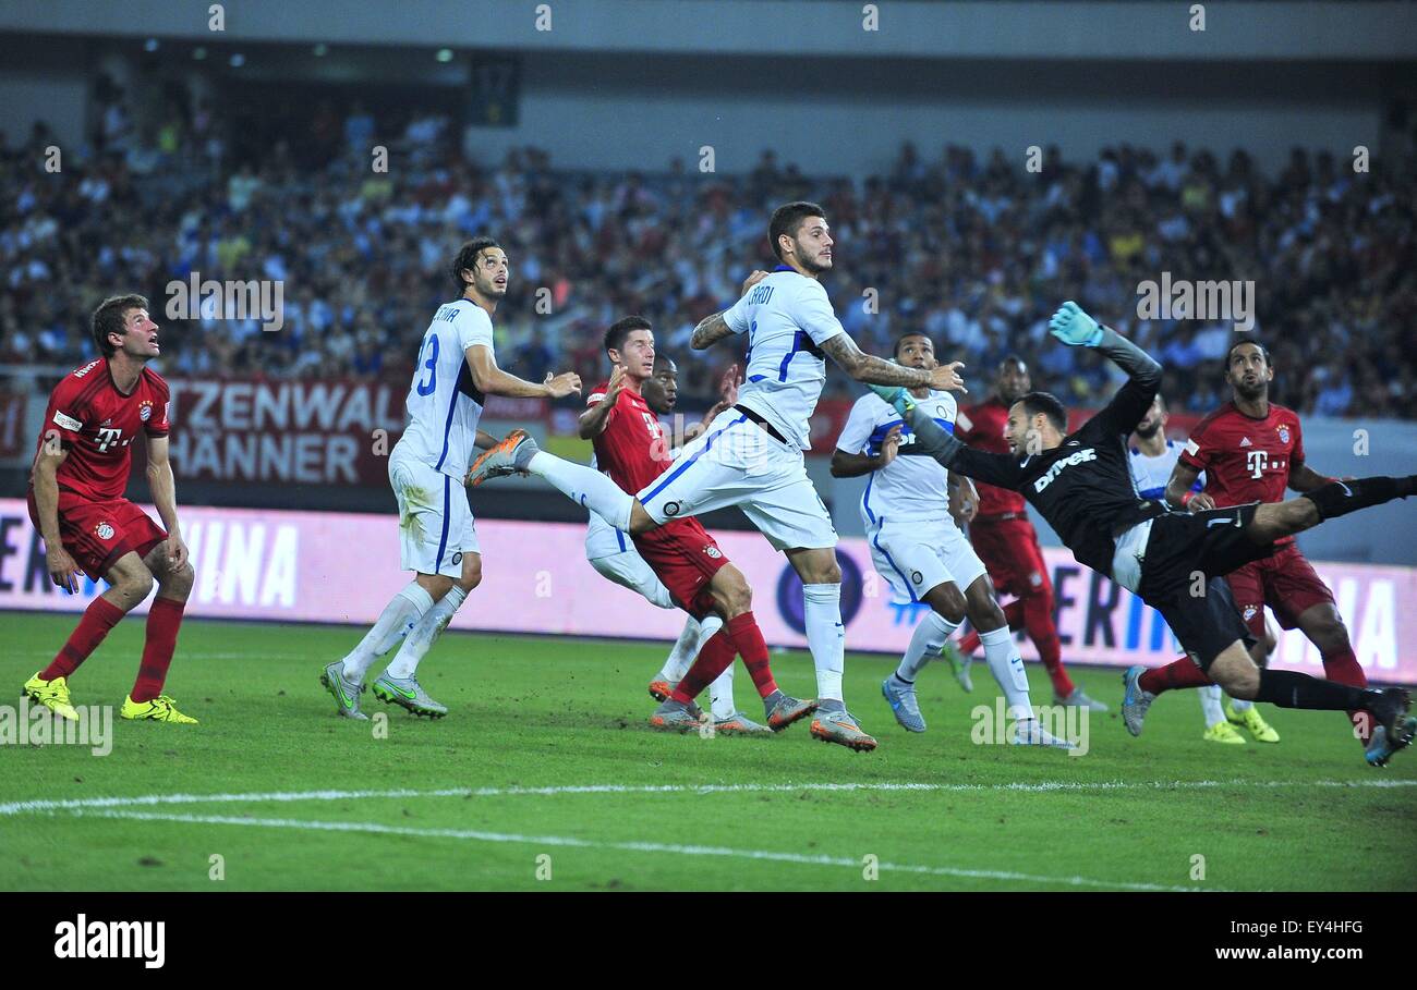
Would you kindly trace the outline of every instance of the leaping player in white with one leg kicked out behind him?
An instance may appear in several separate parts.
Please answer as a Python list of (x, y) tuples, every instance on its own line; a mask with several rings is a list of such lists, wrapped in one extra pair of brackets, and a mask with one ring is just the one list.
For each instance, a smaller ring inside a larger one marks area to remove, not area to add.
[[(745, 334), (747, 381), (738, 402), (684, 446), (673, 469), (631, 497), (608, 477), (538, 450), (529, 436), (509, 435), (473, 463), (468, 482), (529, 472), (616, 528), (648, 533), (666, 520), (738, 506), (768, 541), (786, 554), (802, 578), (808, 649), (816, 667), (818, 701), (812, 735), (856, 751), (876, 748), (842, 698), (845, 630), (836, 530), (812, 487), (802, 452), (830, 357), (860, 382), (907, 388), (964, 389), (962, 365), (931, 371), (864, 354), (832, 312), (820, 278), (832, 269), (826, 214), (813, 203), (788, 203), (772, 212), (768, 239), (782, 262), (754, 272), (743, 297), (699, 323), (694, 350)], [(676, 705), (673, 698), (665, 705)], [(660, 708), (665, 708), (660, 705)]]

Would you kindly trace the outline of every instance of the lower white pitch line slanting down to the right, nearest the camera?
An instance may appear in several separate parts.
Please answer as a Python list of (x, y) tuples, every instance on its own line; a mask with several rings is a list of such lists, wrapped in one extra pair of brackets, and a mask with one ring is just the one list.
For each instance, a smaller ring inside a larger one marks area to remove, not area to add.
[[(78, 814), (84, 816), (84, 812)], [(805, 855), (802, 853), (774, 853), (769, 850), (740, 850), (721, 846), (677, 846), (672, 843), (599, 843), (572, 836), (521, 836), (502, 831), (475, 831), (470, 829), (412, 829), (408, 826), (385, 826), (377, 821), (307, 821), (302, 819), (238, 819), (225, 814), (153, 814), (152, 812), (99, 810), (102, 819), (132, 819), (136, 821), (174, 821), (181, 824), (230, 824), (255, 826), (259, 829), (296, 829), (302, 831), (354, 831), (376, 836), (412, 836), (415, 838), (461, 838), (479, 843), (521, 843), (527, 846), (570, 846), (574, 848), (616, 850), (625, 853), (670, 853), (673, 855), (717, 855), (738, 860), (760, 860), (769, 863), (794, 863), (812, 867), (850, 867), (860, 870), (862, 860), (839, 855)], [(877, 863), (877, 870), (888, 872), (918, 874), (928, 877), (955, 877), (966, 880), (1006, 880), (1024, 884), (1056, 884), (1060, 887), (1095, 887), (1101, 889), (1127, 891), (1172, 891), (1193, 894), (1216, 891), (1207, 887), (1176, 887), (1168, 884), (1142, 884), (1121, 880), (1094, 880), (1091, 877), (1043, 877), (1039, 874), (1013, 872), (1010, 870), (965, 870), (961, 867), (927, 867), (918, 864)]]

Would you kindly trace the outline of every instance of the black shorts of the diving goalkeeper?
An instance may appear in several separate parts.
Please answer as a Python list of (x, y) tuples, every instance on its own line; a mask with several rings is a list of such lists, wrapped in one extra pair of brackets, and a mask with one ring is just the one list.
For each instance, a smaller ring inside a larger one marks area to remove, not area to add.
[(1152, 523), (1138, 593), (1161, 612), (1202, 670), (1236, 640), (1254, 636), (1240, 618), (1224, 575), (1274, 554), (1274, 544), (1244, 535), (1258, 503), (1203, 513), (1168, 513)]

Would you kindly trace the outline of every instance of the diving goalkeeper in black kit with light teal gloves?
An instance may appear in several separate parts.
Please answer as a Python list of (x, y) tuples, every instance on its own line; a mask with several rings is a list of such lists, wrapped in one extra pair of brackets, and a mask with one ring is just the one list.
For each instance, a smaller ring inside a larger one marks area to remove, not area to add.
[[(1367, 762), (1386, 765), (1417, 732), (1417, 718), (1407, 714), (1407, 691), (1261, 670), (1250, 659), (1254, 639), (1224, 575), (1272, 554), (1275, 540), (1406, 499), (1417, 491), (1417, 477), (1331, 482), (1281, 503), (1173, 511), (1142, 499), (1127, 459), (1127, 438), (1156, 395), (1161, 365), (1077, 303), (1064, 303), (1049, 327), (1068, 347), (1093, 347), (1129, 375), (1107, 408), (1073, 433), (1066, 432), (1067, 409), (1056, 397), (1029, 392), (1009, 409), (1005, 438), (1012, 453), (985, 453), (956, 440), (925, 412), (915, 415), (908, 391), (871, 388), (910, 422), (917, 449), (952, 472), (1023, 494), (1080, 564), (1110, 575), (1161, 612), (1187, 656), (1227, 694), (1281, 708), (1366, 711), (1374, 722)], [(1144, 673), (1144, 667), (1129, 667), (1122, 676), (1122, 718), (1132, 735), (1141, 734), (1155, 697), (1138, 684)]]

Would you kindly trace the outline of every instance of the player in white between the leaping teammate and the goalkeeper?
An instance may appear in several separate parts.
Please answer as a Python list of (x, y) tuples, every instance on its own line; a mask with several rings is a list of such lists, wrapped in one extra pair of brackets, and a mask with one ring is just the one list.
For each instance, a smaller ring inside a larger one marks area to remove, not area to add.
[[(907, 333), (896, 341), (896, 360), (910, 368), (934, 368), (935, 346), (921, 333)], [(911, 389), (920, 408), (941, 429), (955, 429), (958, 405), (954, 395), (931, 388)], [(1050, 735), (1034, 718), (1023, 659), (1009, 632), (1009, 622), (993, 595), (983, 561), (949, 517), (949, 494), (956, 484), (969, 484), (930, 456), (913, 456), (914, 433), (886, 399), (867, 392), (836, 440), (832, 474), (870, 474), (862, 496), (862, 518), (876, 572), (891, 586), (897, 602), (925, 602), (931, 610), (910, 637), (910, 646), (896, 673), (881, 681), (881, 694), (908, 732), (924, 732), (925, 718), (915, 700), (915, 678), (945, 640), (969, 616), (979, 630), (989, 671), (1003, 688), (1009, 718), (1015, 719), (1009, 742), (1070, 748)], [(962, 591), (961, 591), (962, 589)]]

